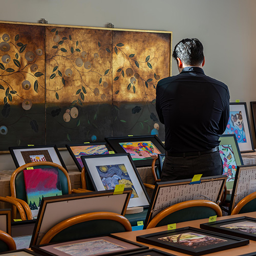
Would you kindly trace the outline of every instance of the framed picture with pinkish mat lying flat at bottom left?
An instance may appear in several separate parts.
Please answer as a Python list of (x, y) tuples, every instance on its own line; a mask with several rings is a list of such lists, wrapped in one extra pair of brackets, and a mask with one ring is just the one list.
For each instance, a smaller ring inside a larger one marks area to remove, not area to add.
[(87, 238), (82, 240), (32, 246), (32, 250), (49, 256), (97, 256), (115, 255), (120, 252), (131, 252), (147, 249), (147, 246), (128, 241), (113, 235)]

